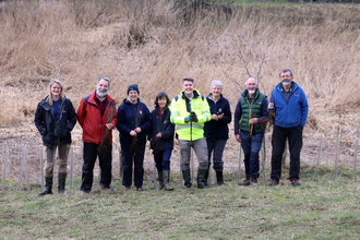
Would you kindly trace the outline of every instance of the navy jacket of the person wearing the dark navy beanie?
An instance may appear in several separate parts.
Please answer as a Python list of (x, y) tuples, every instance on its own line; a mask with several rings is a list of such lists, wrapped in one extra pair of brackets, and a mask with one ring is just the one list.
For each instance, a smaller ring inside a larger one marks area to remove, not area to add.
[(137, 134), (139, 143), (146, 143), (146, 135), (152, 127), (152, 116), (145, 104), (137, 98), (137, 104), (131, 104), (128, 98), (123, 99), (123, 104), (118, 108), (117, 129), (119, 130), (120, 143), (132, 143), (130, 132), (136, 128), (141, 128)]

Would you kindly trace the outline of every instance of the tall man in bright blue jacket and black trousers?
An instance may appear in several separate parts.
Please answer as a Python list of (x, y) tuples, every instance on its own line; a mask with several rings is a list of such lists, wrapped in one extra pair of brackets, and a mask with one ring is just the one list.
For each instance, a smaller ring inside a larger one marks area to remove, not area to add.
[(300, 185), (300, 151), (302, 147), (302, 129), (307, 123), (309, 105), (303, 89), (293, 82), (292, 72), (283, 69), (280, 83), (273, 89), (268, 109), (275, 113), (273, 131), (272, 183), (277, 185), (281, 178), (281, 156), (286, 137), (289, 141), (290, 172), (293, 187)]

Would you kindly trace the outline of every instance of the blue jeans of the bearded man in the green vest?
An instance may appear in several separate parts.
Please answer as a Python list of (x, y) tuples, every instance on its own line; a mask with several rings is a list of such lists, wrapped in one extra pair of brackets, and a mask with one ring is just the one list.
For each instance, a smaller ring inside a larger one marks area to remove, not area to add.
[(243, 151), (245, 165), (245, 173), (251, 178), (259, 178), (259, 152), (263, 144), (264, 134), (257, 133), (250, 135), (243, 131), (240, 131), (241, 147)]

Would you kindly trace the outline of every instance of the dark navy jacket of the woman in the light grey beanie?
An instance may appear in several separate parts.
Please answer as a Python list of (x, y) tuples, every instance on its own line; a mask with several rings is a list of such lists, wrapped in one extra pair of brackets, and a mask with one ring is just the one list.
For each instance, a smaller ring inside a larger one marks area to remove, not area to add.
[(214, 103), (212, 94), (206, 97), (208, 106), (211, 108), (211, 115), (216, 115), (219, 109), (224, 112), (223, 119), (215, 121), (211, 120), (204, 124), (204, 136), (206, 139), (215, 140), (227, 140), (229, 139), (229, 128), (228, 123), (231, 122), (231, 110), (228, 99), (220, 95), (220, 98)]

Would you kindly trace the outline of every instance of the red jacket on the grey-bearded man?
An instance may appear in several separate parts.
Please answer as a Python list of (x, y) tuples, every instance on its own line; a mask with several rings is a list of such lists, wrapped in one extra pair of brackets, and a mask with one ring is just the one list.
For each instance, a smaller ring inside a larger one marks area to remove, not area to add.
[[(117, 108), (115, 99), (109, 95), (106, 95), (106, 109), (101, 119), (100, 108), (98, 108), (96, 101), (96, 91), (91, 95), (84, 97), (77, 109), (77, 121), (83, 128), (83, 141), (86, 143), (100, 144), (106, 131), (106, 123), (108, 121), (108, 112), (113, 112), (111, 120), (112, 127), (117, 125)], [(112, 131), (110, 131), (110, 143), (112, 143)]]

